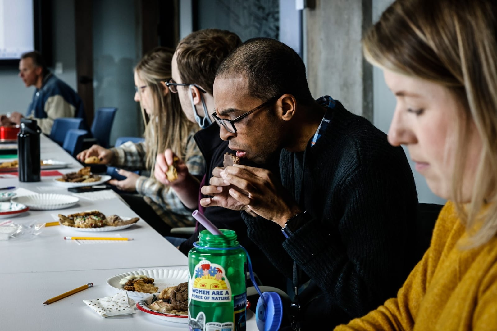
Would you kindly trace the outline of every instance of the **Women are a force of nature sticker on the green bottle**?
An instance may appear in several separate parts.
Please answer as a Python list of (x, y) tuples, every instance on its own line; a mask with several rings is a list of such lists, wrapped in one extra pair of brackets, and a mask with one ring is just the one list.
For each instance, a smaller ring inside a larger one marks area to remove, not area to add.
[(230, 302), (232, 299), (224, 268), (208, 260), (202, 260), (195, 266), (188, 291), (188, 297), (197, 301)]

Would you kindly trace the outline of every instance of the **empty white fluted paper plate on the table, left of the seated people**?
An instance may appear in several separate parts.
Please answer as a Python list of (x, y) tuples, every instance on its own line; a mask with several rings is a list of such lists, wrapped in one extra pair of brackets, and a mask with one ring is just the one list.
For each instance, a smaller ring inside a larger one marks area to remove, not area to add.
[(16, 196), (11, 201), (25, 204), (32, 210), (52, 210), (74, 206), (80, 199), (66, 194), (41, 193)]

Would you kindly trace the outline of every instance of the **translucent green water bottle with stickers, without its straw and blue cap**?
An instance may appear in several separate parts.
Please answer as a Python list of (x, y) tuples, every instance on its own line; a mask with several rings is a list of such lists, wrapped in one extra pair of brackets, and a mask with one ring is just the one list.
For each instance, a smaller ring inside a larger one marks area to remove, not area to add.
[(191, 331), (246, 329), (247, 255), (233, 230), (208, 230), (188, 252), (188, 326)]

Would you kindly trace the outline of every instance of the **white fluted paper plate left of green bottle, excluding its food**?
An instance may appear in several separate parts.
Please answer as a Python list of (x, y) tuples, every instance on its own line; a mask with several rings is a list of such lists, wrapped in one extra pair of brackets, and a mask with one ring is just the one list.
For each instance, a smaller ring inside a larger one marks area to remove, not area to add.
[[(120, 273), (118, 275), (112, 276), (109, 279), (107, 279), (107, 284), (109, 286), (116, 288), (120, 291), (123, 290), (123, 285), (119, 284), (119, 281), (123, 279), (126, 276), (138, 276), (138, 275), (145, 275), (150, 278), (154, 278), (154, 286), (159, 287), (159, 292), (160, 293), (162, 290), (164, 290), (166, 287), (169, 286), (176, 286), (179, 283), (184, 283), (188, 281), (188, 268), (184, 267), (182, 269), (175, 268), (175, 269), (149, 269), (149, 270), (138, 270), (138, 271), (131, 271), (131, 272), (125, 272), (125, 273)], [(147, 298), (151, 296), (150, 293), (142, 293), (142, 292), (136, 292), (136, 291), (126, 291), (128, 292), (128, 295), (134, 296), (134, 297), (139, 297), (139, 298)]]

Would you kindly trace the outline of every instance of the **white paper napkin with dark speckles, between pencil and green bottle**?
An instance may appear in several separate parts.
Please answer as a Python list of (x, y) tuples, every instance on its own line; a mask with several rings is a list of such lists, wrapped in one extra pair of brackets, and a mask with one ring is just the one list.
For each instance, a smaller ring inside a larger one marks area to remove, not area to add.
[(128, 298), (126, 291), (121, 291), (114, 296), (101, 299), (83, 300), (83, 302), (101, 317), (136, 314), (135, 302)]

